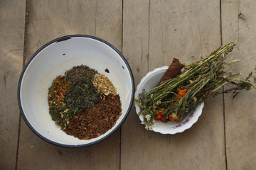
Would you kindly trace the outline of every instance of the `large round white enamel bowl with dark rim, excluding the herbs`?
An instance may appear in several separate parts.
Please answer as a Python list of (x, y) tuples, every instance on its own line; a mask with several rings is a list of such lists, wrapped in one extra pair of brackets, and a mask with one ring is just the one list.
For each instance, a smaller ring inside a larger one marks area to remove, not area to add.
[[(122, 115), (114, 127), (91, 140), (66, 135), (48, 112), (48, 88), (53, 79), (81, 64), (105, 74), (122, 102)], [(48, 42), (28, 60), (18, 82), (18, 104), (28, 127), (43, 140), (64, 147), (92, 145), (110, 136), (127, 118), (133, 99), (134, 78), (127, 60), (110, 43), (89, 35), (68, 35)]]

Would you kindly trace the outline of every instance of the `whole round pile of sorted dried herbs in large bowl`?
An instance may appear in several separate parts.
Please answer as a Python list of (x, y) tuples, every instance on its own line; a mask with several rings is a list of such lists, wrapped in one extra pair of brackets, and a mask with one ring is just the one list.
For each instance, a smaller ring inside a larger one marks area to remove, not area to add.
[(104, 134), (122, 112), (110, 79), (85, 65), (73, 67), (53, 80), (48, 105), (52, 120), (80, 140)]

